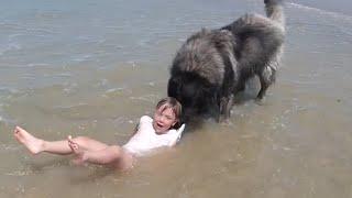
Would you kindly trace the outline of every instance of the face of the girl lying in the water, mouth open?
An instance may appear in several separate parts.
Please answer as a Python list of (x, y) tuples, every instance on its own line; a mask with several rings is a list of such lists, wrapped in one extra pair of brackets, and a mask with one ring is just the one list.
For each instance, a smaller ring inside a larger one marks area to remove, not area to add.
[(165, 105), (155, 110), (153, 128), (157, 134), (167, 132), (177, 122), (172, 108), (165, 108)]

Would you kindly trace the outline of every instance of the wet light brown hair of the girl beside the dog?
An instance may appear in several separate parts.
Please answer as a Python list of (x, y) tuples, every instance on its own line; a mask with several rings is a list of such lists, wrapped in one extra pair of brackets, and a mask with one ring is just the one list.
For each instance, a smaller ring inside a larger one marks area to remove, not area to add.
[(160, 109), (160, 108), (163, 108), (163, 109), (161, 109), (161, 111), (164, 111), (168, 108), (170, 108), (173, 110), (173, 112), (175, 113), (175, 118), (177, 120), (176, 124), (173, 127), (174, 129), (178, 129), (182, 125), (180, 116), (183, 113), (183, 107), (176, 100), (176, 98), (173, 98), (173, 97), (163, 98), (156, 105), (156, 109)]

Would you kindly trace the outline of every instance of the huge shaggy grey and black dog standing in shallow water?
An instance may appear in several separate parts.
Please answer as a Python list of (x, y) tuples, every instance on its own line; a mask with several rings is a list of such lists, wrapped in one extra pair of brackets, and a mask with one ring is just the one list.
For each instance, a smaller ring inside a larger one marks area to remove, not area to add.
[(282, 0), (264, 0), (266, 15), (245, 14), (218, 30), (201, 30), (179, 48), (170, 67), (168, 96), (184, 107), (184, 121), (230, 117), (233, 97), (258, 76), (262, 99), (275, 81), (285, 37)]

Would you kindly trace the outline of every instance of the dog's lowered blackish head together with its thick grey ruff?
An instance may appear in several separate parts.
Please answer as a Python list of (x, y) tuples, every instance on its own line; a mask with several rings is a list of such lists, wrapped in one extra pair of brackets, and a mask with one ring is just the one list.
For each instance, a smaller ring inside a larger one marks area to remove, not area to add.
[(219, 117), (223, 86), (233, 81), (234, 45), (229, 31), (204, 29), (177, 52), (170, 67), (168, 96), (183, 105), (185, 122)]

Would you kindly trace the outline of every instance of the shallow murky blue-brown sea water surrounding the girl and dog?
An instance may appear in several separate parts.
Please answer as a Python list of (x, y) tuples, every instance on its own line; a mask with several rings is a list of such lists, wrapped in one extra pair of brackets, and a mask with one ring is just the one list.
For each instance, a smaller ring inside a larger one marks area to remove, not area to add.
[(32, 156), (13, 128), (123, 144), (166, 96), (187, 36), (263, 14), (263, 2), (1, 1), (0, 197), (352, 197), (351, 8), (286, 1), (283, 64), (265, 99), (118, 173)]

